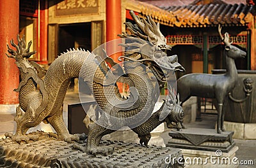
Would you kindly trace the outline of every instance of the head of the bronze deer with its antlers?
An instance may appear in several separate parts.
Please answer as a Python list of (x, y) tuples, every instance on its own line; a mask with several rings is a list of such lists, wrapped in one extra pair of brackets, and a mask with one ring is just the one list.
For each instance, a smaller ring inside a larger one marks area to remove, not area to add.
[(230, 57), (232, 59), (237, 59), (237, 58), (244, 58), (246, 56), (246, 52), (244, 52), (243, 50), (240, 50), (236, 46), (233, 46), (232, 41), (229, 42), (228, 32), (225, 32), (224, 37), (222, 36), (220, 25), (218, 27), (218, 32), (219, 32), (221, 41), (223, 41), (223, 43), (225, 44), (224, 52), (227, 55), (227, 57)]

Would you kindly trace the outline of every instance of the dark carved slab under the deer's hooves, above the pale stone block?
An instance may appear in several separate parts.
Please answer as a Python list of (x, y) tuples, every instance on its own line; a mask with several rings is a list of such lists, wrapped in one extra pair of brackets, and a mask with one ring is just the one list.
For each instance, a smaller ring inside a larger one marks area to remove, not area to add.
[(214, 129), (189, 128), (172, 130), (169, 136), (172, 137), (166, 146), (191, 150), (206, 150), (223, 152), (230, 151), (235, 142), (232, 139), (234, 132), (226, 131), (218, 134)]

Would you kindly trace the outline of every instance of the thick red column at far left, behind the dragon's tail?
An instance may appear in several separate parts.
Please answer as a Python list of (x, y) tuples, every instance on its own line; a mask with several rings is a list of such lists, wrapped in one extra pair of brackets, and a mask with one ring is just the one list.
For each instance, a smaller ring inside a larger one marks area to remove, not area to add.
[(19, 1), (0, 0), (0, 23), (0, 104), (17, 104), (18, 94), (13, 89), (19, 85), (19, 70), (15, 60), (8, 58), (5, 53), (6, 45), (10, 45), (12, 38), (17, 43)]

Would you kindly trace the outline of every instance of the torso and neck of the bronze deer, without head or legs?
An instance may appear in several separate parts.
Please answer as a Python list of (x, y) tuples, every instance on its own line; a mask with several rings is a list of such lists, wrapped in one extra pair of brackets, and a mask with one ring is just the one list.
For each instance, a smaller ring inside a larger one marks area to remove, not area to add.
[(180, 101), (191, 96), (221, 99), (223, 92), (231, 92), (237, 82), (237, 70), (234, 59), (227, 59), (225, 74), (186, 74), (179, 78)]

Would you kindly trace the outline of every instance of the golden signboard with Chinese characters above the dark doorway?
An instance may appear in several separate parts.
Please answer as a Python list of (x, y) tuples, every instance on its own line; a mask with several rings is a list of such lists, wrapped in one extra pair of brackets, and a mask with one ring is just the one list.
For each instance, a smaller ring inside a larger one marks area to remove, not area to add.
[(56, 16), (98, 13), (99, 0), (65, 0), (56, 4)]

